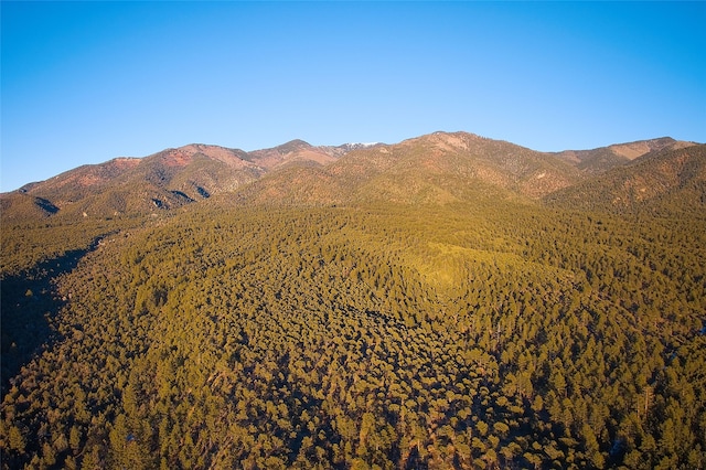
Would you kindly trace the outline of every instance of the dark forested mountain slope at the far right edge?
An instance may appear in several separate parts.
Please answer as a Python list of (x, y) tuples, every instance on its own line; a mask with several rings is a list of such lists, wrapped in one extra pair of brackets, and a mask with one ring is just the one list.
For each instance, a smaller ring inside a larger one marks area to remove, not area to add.
[(550, 205), (608, 212), (706, 210), (706, 145), (646, 153), (546, 197)]

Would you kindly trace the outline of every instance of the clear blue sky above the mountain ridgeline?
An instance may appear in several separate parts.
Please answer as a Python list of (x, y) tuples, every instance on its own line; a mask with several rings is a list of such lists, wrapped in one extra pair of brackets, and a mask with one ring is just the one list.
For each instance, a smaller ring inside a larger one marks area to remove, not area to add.
[(2, 191), (191, 142), (706, 141), (706, 2), (1, 9)]

